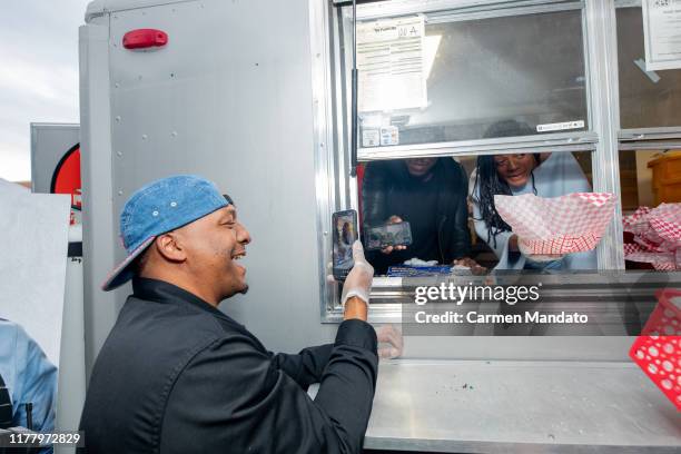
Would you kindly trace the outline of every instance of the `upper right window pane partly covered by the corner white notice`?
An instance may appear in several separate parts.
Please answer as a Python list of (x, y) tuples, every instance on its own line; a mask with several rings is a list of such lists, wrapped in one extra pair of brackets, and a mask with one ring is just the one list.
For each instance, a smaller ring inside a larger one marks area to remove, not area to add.
[(645, 71), (640, 7), (616, 9), (622, 129), (681, 129), (681, 69)]

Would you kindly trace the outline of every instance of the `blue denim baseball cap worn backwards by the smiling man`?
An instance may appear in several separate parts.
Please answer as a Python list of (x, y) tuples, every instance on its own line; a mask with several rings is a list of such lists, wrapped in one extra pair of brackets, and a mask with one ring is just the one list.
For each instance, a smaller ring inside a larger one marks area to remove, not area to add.
[(101, 288), (112, 290), (135, 275), (132, 261), (157, 236), (175, 230), (229, 205), (216, 186), (195, 175), (176, 175), (137, 190), (120, 214), (120, 237), (128, 253)]

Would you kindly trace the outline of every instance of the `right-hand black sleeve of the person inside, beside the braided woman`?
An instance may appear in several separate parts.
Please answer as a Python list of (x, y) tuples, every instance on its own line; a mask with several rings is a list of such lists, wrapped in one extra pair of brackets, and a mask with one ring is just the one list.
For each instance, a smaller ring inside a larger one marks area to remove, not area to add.
[(466, 171), (458, 164), (456, 167), (457, 178), (452, 180), (452, 213), (448, 214), (453, 219), (451, 229), (450, 257), (467, 257), (471, 255), (471, 230), (468, 229), (468, 177)]

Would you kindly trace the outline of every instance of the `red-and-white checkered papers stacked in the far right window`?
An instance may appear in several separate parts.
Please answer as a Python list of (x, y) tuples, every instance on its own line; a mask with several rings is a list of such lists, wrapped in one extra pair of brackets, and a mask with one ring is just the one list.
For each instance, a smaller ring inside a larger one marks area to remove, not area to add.
[(681, 269), (681, 204), (641, 207), (622, 224), (635, 241), (624, 245), (624, 258), (651, 264), (658, 270)]

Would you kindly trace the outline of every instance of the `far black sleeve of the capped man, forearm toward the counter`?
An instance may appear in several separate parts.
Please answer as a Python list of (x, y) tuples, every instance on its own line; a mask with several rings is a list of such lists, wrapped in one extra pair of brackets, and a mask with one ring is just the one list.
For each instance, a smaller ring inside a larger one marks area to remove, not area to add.
[(304, 348), (297, 355), (279, 353), (272, 357), (275, 366), (284, 371), (303, 388), (322, 381), (322, 373), (334, 348), (333, 344)]

